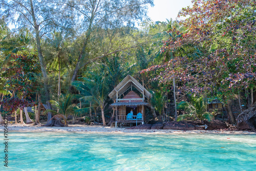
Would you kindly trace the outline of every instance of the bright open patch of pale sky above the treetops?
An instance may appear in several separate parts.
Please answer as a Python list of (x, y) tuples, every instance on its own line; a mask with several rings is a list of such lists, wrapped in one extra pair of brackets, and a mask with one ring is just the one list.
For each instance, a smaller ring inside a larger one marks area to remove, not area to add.
[(148, 16), (154, 22), (176, 19), (182, 8), (192, 5), (191, 0), (155, 0), (154, 4), (154, 7), (148, 7)]

